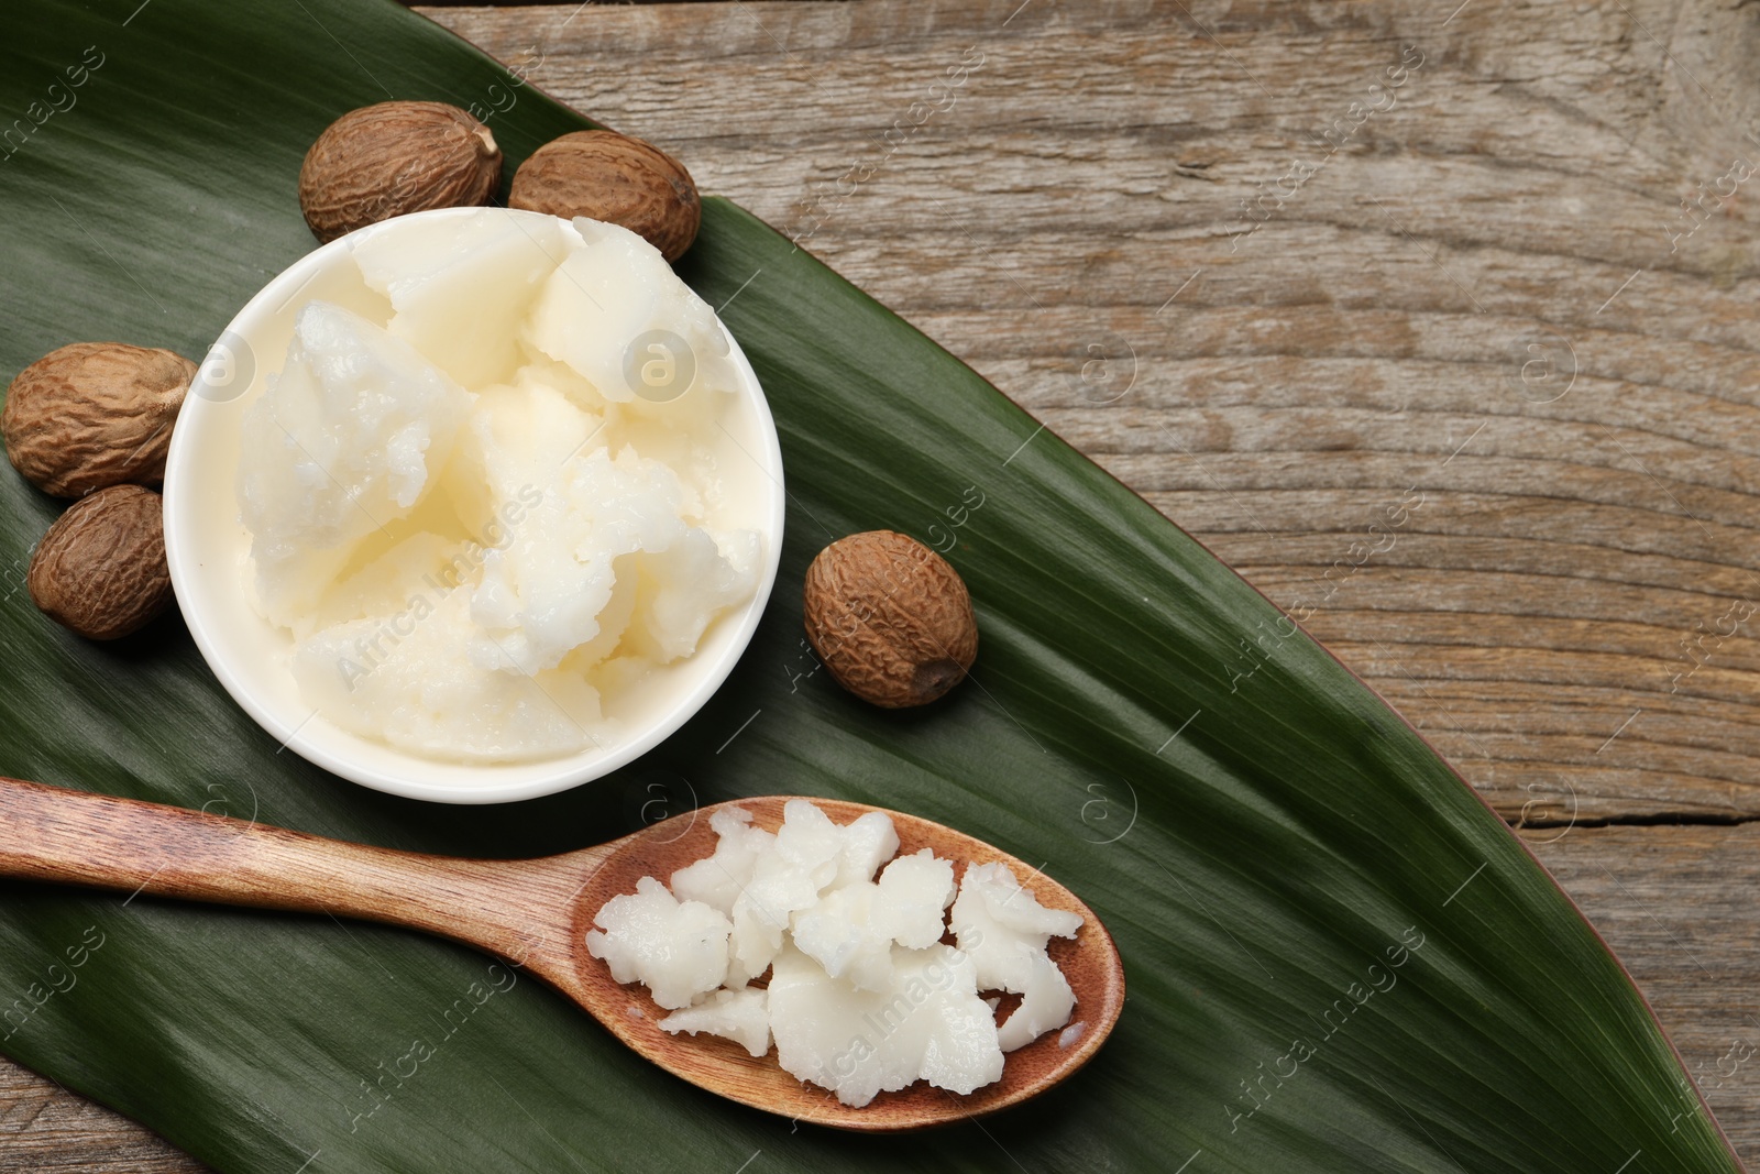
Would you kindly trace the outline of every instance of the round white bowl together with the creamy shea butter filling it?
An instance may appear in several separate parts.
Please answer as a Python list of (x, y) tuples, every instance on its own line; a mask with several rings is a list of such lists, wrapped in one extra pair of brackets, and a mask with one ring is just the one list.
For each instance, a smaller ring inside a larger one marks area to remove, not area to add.
[(209, 667), (366, 787), (507, 803), (605, 774), (732, 671), (781, 451), (715, 312), (639, 236), (398, 216), (266, 285), (202, 364), (165, 553)]

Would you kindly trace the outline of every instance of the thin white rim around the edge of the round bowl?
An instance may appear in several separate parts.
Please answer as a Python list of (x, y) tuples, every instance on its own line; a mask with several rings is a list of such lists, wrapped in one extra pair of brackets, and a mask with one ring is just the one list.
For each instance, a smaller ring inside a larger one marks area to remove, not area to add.
[[(324, 271), (338, 266), (338, 262), (354, 264), (350, 252), (354, 243), (368, 234), (377, 232), (394, 232), (396, 225), (405, 225), (412, 222), (431, 222), (444, 218), (465, 218), (486, 211), (498, 211), (509, 216), (542, 216), (546, 220), (561, 220), (560, 216), (549, 216), (546, 213), (507, 209), (507, 208), (438, 208), (429, 211), (408, 213), (403, 216), (394, 216), (391, 220), (382, 220), (363, 229), (356, 229), (345, 236), (333, 241), (319, 245), (299, 260), (292, 262), (273, 276), (257, 294), (253, 294), (243, 308), (227, 322), (222, 331), (215, 349), (225, 347), (227, 338), (238, 338), (250, 341), (252, 331), (262, 327), (271, 320), (285, 303), (292, 301), (301, 289), (313, 282)], [(563, 220), (563, 224), (570, 224)], [(711, 308), (713, 310), (713, 308)], [(359, 783), (371, 790), (380, 790), (392, 796), (401, 796), (407, 799), (424, 799), (431, 803), (451, 803), (451, 804), (488, 804), (488, 803), (517, 803), (523, 799), (537, 799), (542, 796), (558, 794), (561, 790), (570, 790), (581, 787), (597, 778), (604, 778), (612, 771), (628, 766), (635, 759), (642, 757), (662, 741), (676, 734), (704, 704), (713, 697), (720, 686), (732, 674), (734, 665), (741, 660), (746, 648), (752, 644), (752, 637), (757, 634), (759, 621), (764, 616), (766, 605), (769, 602), (771, 591), (776, 586), (776, 572), (781, 563), (781, 542), (783, 542), (783, 521), (787, 514), (787, 489), (783, 486), (783, 463), (781, 463), (781, 440), (776, 431), (776, 421), (769, 408), (769, 400), (764, 394), (764, 387), (759, 382), (757, 371), (752, 370), (752, 363), (746, 359), (744, 350), (739, 347), (739, 340), (734, 338), (732, 331), (716, 315), (716, 324), (722, 327), (722, 334), (729, 343), (729, 357), (737, 373), (737, 394), (746, 400), (750, 408), (755, 412), (755, 421), (759, 433), (762, 435), (762, 452), (746, 452), (753, 463), (759, 465), (767, 482), (773, 486), (769, 510), (766, 517), (767, 530), (762, 533), (766, 551), (760, 561), (760, 577), (757, 590), (746, 602), (744, 609), (737, 614), (718, 616), (715, 625), (734, 625), (734, 632), (725, 637), (725, 646), (722, 649), (720, 660), (711, 667), (700, 671), (693, 678), (693, 685), (688, 692), (679, 695), (676, 701), (667, 704), (662, 715), (651, 723), (641, 727), (630, 727), (618, 743), (602, 753), (581, 752), (574, 755), (558, 757), (553, 760), (528, 760), (516, 764), (496, 764), (484, 762), (480, 769), (486, 774), (493, 774), (496, 769), (512, 767), (521, 773), (532, 774), (533, 769), (542, 767), (546, 762), (553, 762), (554, 769), (542, 771), (528, 778), (517, 780), (500, 780), (488, 781), (480, 787), (461, 785), (458, 781), (436, 781), (433, 778), (421, 778), (422, 767), (428, 769), (449, 769), (456, 771), (473, 769), (479, 764), (458, 762), (458, 760), (440, 760), (426, 759), (422, 755), (410, 753), (389, 743), (375, 743), (340, 727), (333, 727), (326, 722), (326, 729), (348, 743), (361, 743), (370, 746), (375, 755), (384, 755), (385, 752), (396, 755), (400, 762), (410, 764), (414, 776), (396, 774), (373, 766), (350, 760), (343, 753), (333, 752), (329, 746), (317, 743), (306, 734), (312, 722), (322, 720), (322, 715), (310, 713), (299, 720), (289, 720), (285, 713), (271, 706), (259, 692), (250, 685), (246, 676), (239, 669), (239, 658), (229, 648), (224, 634), (218, 630), (218, 623), (211, 623), (209, 616), (204, 616), (201, 609), (192, 602), (195, 595), (194, 584), (204, 576), (213, 574), (232, 574), (234, 565), (220, 561), (213, 567), (204, 567), (201, 558), (201, 528), (192, 523), (185, 528), (183, 510), (180, 509), (185, 495), (185, 482), (194, 479), (197, 473), (192, 472), (199, 465), (197, 451), (197, 428), (174, 428), (171, 435), (171, 445), (165, 458), (165, 479), (164, 479), (164, 516), (165, 516), (165, 560), (171, 569), (171, 584), (178, 600), (178, 611), (183, 614), (183, 621), (195, 639), (195, 646), (208, 664), (209, 671), (218, 678), (220, 685), (227, 693), (239, 704), (245, 713), (248, 713), (257, 725), (268, 730), (282, 748), (292, 750), (306, 762), (312, 762), (340, 778)], [(213, 356), (215, 349), (208, 354)], [(180, 424), (194, 410), (195, 414), (206, 410), (224, 408), (225, 403), (215, 403), (224, 396), (202, 396), (201, 387), (209, 378), (209, 363), (204, 361), (197, 370), (195, 378), (185, 396), (183, 408), (180, 412)], [(262, 373), (266, 377), (268, 371)], [(732, 437), (730, 437), (732, 438)], [(734, 440), (736, 447), (744, 451), (746, 445)], [(260, 618), (260, 616), (259, 616)], [(260, 620), (266, 627), (268, 620)]]

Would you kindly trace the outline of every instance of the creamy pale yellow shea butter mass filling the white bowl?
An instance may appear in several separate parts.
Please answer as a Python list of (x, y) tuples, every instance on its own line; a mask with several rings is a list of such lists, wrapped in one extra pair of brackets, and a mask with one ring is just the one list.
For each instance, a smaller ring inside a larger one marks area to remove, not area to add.
[(243, 412), (245, 588), (333, 725), (451, 762), (604, 750), (753, 598), (767, 473), (713, 310), (639, 236), (473, 209), (343, 241)]

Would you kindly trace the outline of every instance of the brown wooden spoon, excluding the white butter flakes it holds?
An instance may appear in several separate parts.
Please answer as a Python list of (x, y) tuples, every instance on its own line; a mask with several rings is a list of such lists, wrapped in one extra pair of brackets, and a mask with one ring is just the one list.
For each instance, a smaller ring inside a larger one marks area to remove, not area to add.
[[(781, 824), (785, 796), (741, 799), (762, 827)], [(813, 799), (848, 824), (861, 803)], [(722, 804), (732, 806), (732, 804)], [(1008, 1054), (998, 1082), (957, 1097), (919, 1081), (850, 1109), (711, 1035), (669, 1035), (665, 1010), (642, 986), (620, 986), (586, 952), (598, 908), (634, 892), (641, 877), (672, 871), (715, 850), (709, 813), (678, 815), (597, 848), (535, 861), (465, 861), (324, 840), (255, 822), (111, 796), (0, 780), (0, 875), (99, 885), (123, 892), (334, 914), (410, 926), (466, 942), (524, 966), (586, 1009), (620, 1040), (699, 1088), (799, 1121), (898, 1132), (975, 1118), (1019, 1104), (1067, 1079), (1105, 1042), (1125, 1007), (1125, 972), (1100, 919), (1075, 894), (991, 845), (913, 815), (887, 811), (899, 852), (935, 848), (956, 862), (1000, 861), (1047, 908), (1074, 910), (1074, 940), (1052, 938), (1051, 958), (1075, 991), (1063, 1031)]]

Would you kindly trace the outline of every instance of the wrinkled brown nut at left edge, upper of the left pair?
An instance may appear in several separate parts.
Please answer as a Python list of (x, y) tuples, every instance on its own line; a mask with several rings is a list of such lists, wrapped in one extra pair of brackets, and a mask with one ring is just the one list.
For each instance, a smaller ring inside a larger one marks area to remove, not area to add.
[(165, 477), (171, 428), (195, 364), (127, 343), (51, 350), (12, 380), (0, 435), (12, 468), (44, 493), (77, 498)]

